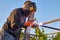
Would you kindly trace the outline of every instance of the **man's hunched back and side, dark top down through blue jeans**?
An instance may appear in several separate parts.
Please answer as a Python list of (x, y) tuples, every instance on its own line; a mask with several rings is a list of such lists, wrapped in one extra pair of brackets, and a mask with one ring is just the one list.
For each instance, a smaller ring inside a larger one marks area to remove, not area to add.
[[(23, 9), (18, 8), (13, 10), (3, 25), (4, 34), (2, 40), (19, 40), (20, 29), (24, 26), (23, 23), (25, 22), (25, 19), (26, 17)], [(14, 39), (12, 39), (13, 37)]]

